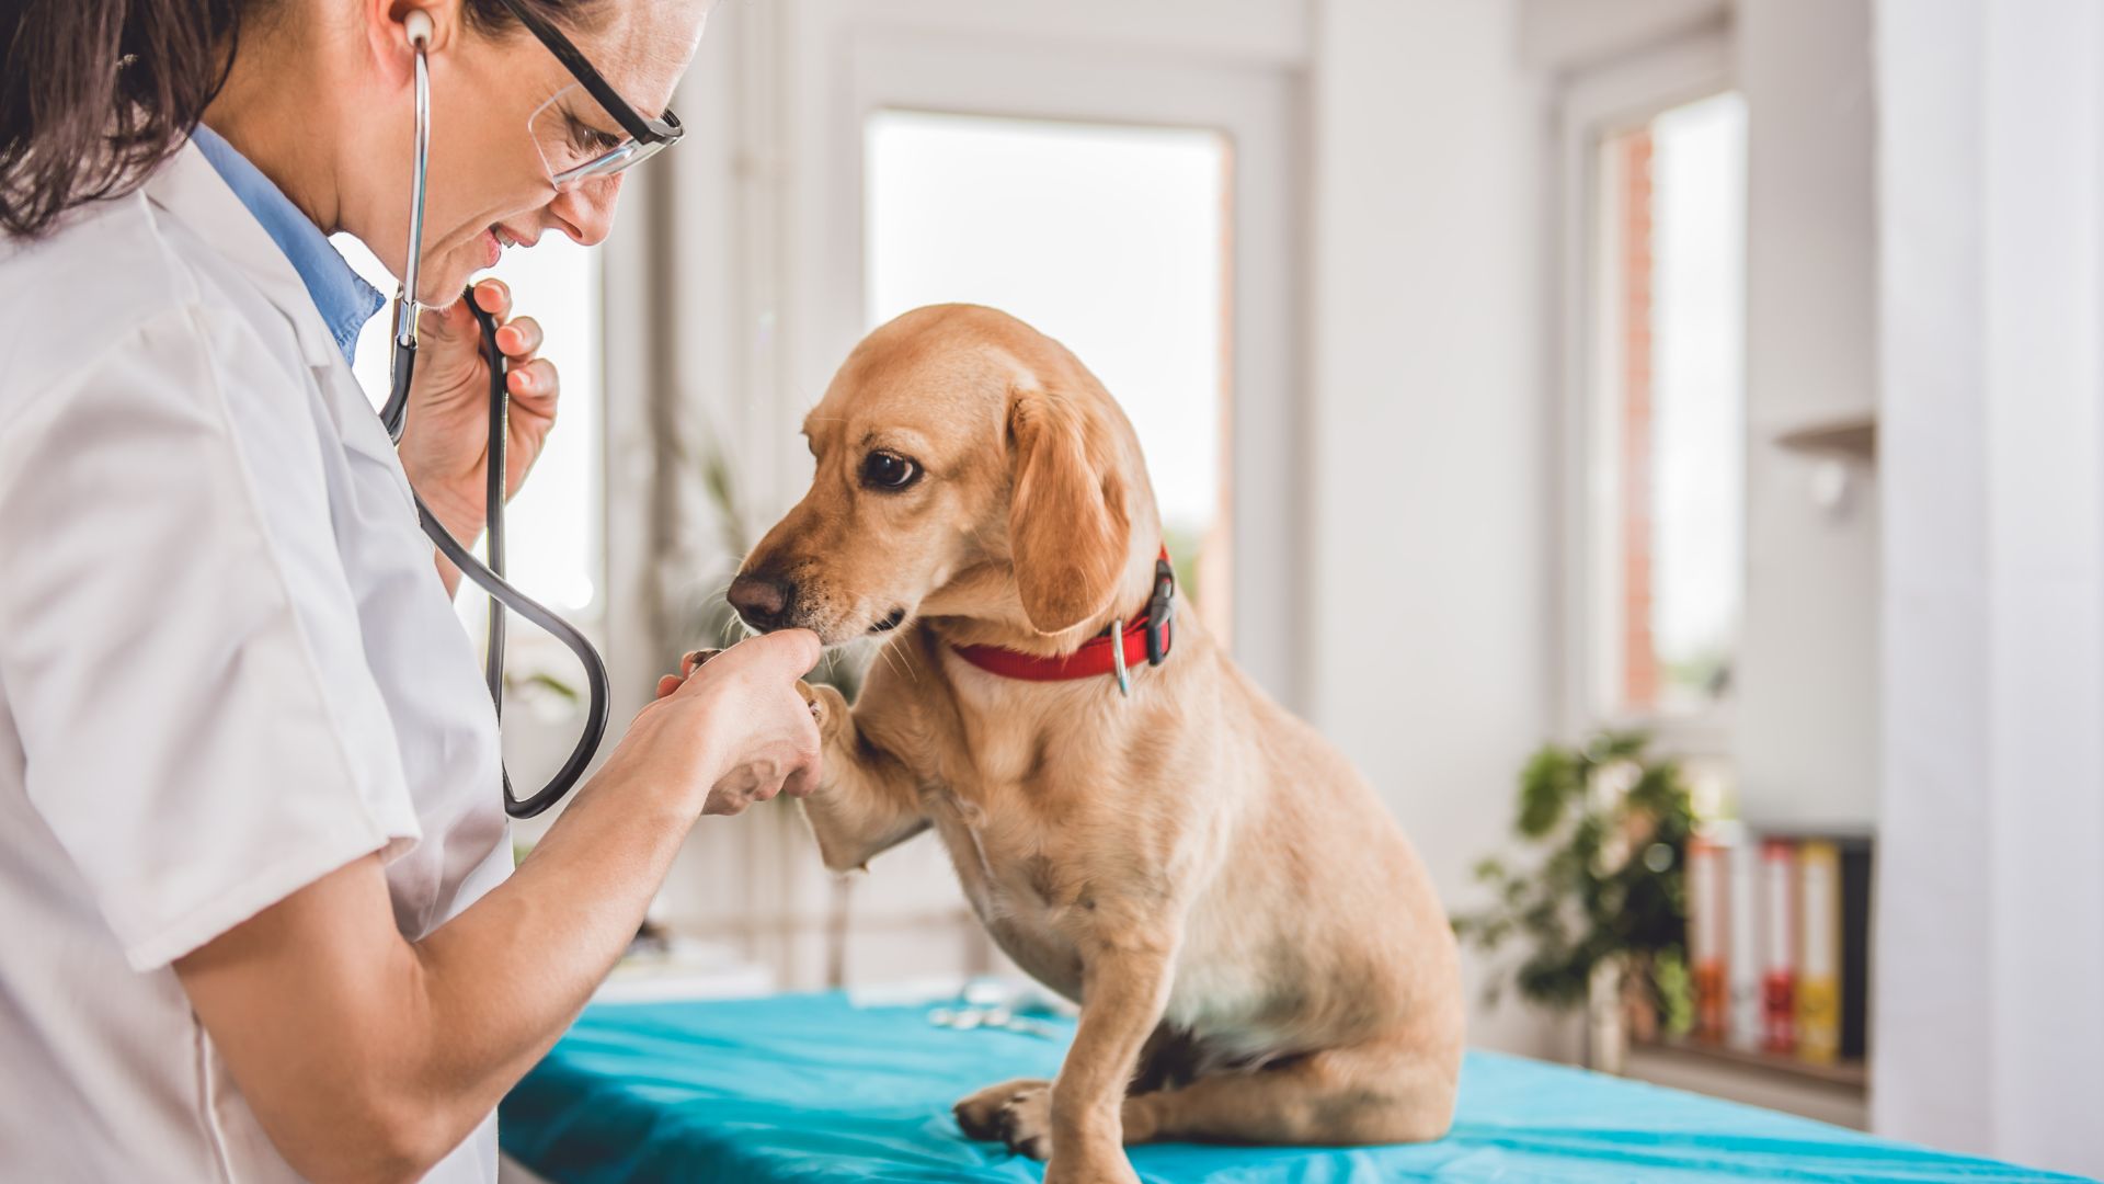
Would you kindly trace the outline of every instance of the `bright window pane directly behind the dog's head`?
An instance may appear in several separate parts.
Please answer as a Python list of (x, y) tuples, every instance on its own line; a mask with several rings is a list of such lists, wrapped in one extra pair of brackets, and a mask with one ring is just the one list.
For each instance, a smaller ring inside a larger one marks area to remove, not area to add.
[(869, 324), (968, 301), (1073, 350), (1132, 419), (1185, 590), (1225, 638), (1225, 137), (898, 110), (865, 133)]

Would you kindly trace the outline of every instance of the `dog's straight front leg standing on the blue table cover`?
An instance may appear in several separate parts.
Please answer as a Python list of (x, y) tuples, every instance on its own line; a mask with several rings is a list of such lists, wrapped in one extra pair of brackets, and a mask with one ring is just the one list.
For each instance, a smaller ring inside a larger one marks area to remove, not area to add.
[(1140, 1049), (1168, 1007), (1176, 935), (1159, 916), (1100, 921), (1081, 942), (1081, 1024), (1052, 1083), (1048, 1184), (1138, 1180), (1119, 1114)]

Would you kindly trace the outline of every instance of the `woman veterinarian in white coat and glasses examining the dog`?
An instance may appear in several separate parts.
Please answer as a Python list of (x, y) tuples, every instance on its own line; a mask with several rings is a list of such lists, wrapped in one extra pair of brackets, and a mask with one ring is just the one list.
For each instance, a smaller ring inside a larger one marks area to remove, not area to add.
[[(410, 508), (482, 520), (473, 322), (425, 314), (398, 461), (345, 360), (381, 301), (324, 238), (404, 270), (417, 11), (419, 297), (604, 238), (621, 175), (549, 169), (623, 143), (576, 82), (659, 116), (692, 0), (0, 8), (0, 1180), (490, 1180), (497, 1100), (696, 815), (816, 773), (816, 643), (753, 640), (509, 868), (497, 721)], [(513, 487), (555, 413), (539, 339), (499, 335)]]

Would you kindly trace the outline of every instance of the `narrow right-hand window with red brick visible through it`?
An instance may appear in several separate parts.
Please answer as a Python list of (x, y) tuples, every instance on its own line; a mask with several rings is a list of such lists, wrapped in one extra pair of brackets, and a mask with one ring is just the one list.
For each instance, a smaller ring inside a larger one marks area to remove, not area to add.
[(1744, 586), (1746, 107), (1595, 139), (1589, 697), (1610, 721), (1729, 702)]

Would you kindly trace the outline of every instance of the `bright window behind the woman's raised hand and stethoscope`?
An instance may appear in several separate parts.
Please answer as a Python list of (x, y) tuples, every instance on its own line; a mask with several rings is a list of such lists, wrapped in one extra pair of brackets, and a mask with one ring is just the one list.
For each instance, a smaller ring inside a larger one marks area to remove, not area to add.
[[(393, 295), (396, 280), (362, 242), (347, 234), (337, 249), (372, 287)], [(541, 322), (541, 354), (562, 373), (560, 421), (534, 463), (532, 480), (511, 499), (509, 577), (528, 596), (566, 615), (593, 615), (604, 605), (604, 541), (600, 474), (600, 261), (562, 234), (547, 234), (532, 249), (505, 253), (494, 272), (511, 284), (513, 308)], [(358, 381), (379, 407), (387, 398), (393, 360), (389, 310), (381, 310), (358, 339)], [(463, 613), (482, 619), (482, 596), (469, 594)], [(480, 628), (480, 626), (478, 626)], [(522, 630), (518, 636), (539, 636)]]

